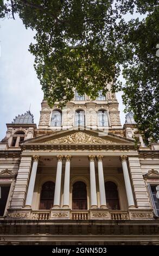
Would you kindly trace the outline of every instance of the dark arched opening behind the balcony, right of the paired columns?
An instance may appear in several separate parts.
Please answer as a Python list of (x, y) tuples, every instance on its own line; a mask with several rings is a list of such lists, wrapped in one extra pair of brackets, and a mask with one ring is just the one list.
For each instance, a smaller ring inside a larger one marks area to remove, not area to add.
[(105, 182), (106, 204), (109, 209), (120, 210), (117, 185), (112, 181)]

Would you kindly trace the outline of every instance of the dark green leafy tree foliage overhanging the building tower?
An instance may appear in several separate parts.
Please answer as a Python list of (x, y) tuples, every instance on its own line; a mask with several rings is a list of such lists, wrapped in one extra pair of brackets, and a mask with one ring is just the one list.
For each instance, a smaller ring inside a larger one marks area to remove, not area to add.
[(123, 90), (126, 111), (133, 111), (145, 139), (157, 140), (158, 8), (155, 0), (1, 0), (0, 17), (17, 13), (35, 29), (29, 51), (50, 106), (71, 100), (74, 88), (94, 99), (111, 83), (113, 92)]

